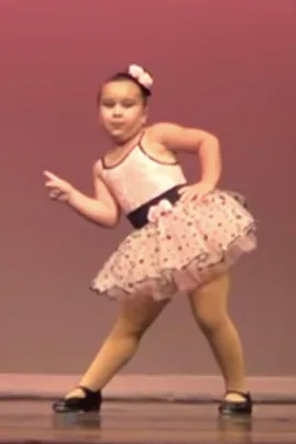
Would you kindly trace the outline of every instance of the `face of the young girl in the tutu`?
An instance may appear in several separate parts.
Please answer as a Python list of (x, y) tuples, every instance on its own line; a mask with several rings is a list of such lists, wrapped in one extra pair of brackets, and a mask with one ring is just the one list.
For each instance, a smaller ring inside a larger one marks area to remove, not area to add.
[(145, 125), (147, 105), (137, 84), (130, 80), (115, 80), (103, 86), (99, 113), (106, 133), (117, 143), (124, 143)]

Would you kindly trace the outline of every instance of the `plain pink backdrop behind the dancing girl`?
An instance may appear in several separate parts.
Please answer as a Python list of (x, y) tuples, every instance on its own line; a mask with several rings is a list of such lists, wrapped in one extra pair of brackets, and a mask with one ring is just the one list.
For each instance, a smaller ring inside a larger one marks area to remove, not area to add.
[[(151, 121), (217, 134), (223, 184), (258, 218), (230, 299), (249, 373), (295, 374), (295, 20), (294, 0), (1, 0), (0, 372), (82, 372), (116, 315), (88, 285), (128, 225), (104, 231), (49, 203), (42, 171), (91, 192), (96, 87), (136, 61), (156, 78)], [(125, 372), (217, 373), (185, 300)]]

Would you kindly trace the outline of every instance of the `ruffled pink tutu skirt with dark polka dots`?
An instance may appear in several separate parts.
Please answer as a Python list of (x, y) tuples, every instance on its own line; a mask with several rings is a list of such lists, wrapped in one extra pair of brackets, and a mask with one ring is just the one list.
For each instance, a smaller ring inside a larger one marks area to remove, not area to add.
[(214, 191), (202, 202), (178, 201), (135, 229), (91, 283), (111, 298), (187, 293), (226, 272), (257, 248), (255, 223), (242, 196)]

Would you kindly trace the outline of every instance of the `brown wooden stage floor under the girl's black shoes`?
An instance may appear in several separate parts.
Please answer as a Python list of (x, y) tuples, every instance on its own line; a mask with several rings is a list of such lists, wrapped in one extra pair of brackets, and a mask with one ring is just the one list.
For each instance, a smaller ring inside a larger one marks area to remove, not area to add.
[(215, 405), (106, 402), (99, 415), (54, 415), (49, 402), (0, 401), (0, 443), (296, 444), (295, 406), (255, 406), (252, 421)]

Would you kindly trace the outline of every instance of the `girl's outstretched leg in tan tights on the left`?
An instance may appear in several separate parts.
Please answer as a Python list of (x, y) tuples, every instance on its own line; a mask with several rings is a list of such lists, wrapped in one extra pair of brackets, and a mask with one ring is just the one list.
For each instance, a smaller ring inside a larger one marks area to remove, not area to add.
[[(125, 300), (121, 306), (115, 326), (83, 375), (79, 386), (86, 387), (92, 392), (100, 392), (109, 380), (133, 357), (144, 332), (167, 304), (168, 300), (156, 301), (151, 297), (136, 297)], [(65, 400), (83, 397), (86, 397), (86, 392), (76, 388), (66, 396)], [(65, 400), (59, 400), (57, 408), (54, 407), (55, 410), (61, 411), (65, 407)], [(62, 403), (61, 407), (60, 403)]]

